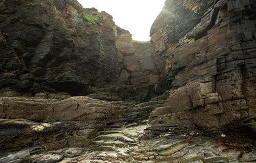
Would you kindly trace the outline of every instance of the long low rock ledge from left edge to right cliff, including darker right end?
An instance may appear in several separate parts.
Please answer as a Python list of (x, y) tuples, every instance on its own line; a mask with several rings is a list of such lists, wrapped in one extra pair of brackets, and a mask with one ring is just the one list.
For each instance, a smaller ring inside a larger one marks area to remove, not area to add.
[(1, 97), (0, 118), (24, 119), (35, 122), (90, 122), (123, 119), (127, 122), (147, 120), (150, 112), (163, 107), (167, 94), (152, 98), (149, 102), (134, 105), (124, 101), (102, 101), (88, 96), (66, 99), (35, 97)]

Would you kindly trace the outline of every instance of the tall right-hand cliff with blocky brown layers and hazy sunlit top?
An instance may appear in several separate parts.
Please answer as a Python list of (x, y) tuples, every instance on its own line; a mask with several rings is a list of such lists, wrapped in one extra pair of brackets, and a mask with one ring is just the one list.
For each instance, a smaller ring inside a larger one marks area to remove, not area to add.
[(152, 123), (255, 130), (255, 1), (167, 0), (151, 30), (171, 88)]

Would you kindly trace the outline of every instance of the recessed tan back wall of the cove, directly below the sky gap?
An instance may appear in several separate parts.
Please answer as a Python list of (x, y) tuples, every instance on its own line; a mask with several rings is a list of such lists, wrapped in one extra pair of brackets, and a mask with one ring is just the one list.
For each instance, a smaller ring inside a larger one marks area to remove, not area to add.
[(91, 88), (88, 96), (141, 103), (165, 92), (165, 58), (154, 52), (152, 43), (132, 41), (126, 31), (119, 34), (116, 46), (117, 54), (122, 56), (119, 75), (111, 83)]

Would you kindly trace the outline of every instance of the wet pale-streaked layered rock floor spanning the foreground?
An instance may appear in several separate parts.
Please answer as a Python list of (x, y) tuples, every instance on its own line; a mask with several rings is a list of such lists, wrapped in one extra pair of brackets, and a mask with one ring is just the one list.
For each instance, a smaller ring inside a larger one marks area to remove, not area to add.
[[(56, 123), (1, 120), (1, 126), (20, 125), (23, 130), (29, 126), (27, 130), (33, 130), (38, 141), (34, 140), (33, 147), (23, 147), (20, 151), (2, 151), (0, 162), (255, 162), (256, 152), (251, 144), (223, 143), (197, 131), (182, 134), (177, 128), (166, 132), (160, 127), (162, 132), (152, 135), (156, 126), (146, 123), (127, 124), (119, 120), (97, 127), (81, 122), (61, 122), (65, 129), (59, 130)], [(68, 124), (72, 124), (72, 128), (68, 128)], [(89, 129), (91, 127), (94, 129)], [(47, 134), (53, 130), (55, 135)], [(3, 132), (1, 137), (7, 138)], [(5, 142), (8, 140), (10, 138)]]

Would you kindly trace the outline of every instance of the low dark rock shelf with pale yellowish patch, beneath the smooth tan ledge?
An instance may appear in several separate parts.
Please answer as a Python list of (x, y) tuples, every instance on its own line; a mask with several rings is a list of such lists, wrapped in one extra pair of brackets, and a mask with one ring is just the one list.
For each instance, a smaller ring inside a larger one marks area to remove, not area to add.
[[(95, 125), (94, 128), (96, 128)], [(5, 151), (23, 151), (30, 147), (29, 153), (33, 155), (34, 152), (41, 153), (65, 147), (86, 147), (89, 145), (88, 137), (92, 137), (91, 135), (95, 132), (94, 128), (86, 122), (38, 123), (24, 119), (1, 119), (0, 153), (2, 156)], [(24, 154), (20, 157), (27, 159), (28, 156)], [(0, 162), (8, 161), (1, 159)]]

